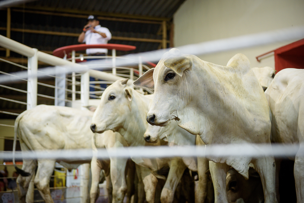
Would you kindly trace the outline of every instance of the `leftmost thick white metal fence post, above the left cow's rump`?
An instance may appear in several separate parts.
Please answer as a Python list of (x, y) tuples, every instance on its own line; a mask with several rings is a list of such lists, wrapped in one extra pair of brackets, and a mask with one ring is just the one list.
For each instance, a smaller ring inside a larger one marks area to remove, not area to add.
[(34, 56), (27, 60), (27, 107), (34, 108), (37, 105), (37, 71), (38, 71), (38, 49), (34, 49)]

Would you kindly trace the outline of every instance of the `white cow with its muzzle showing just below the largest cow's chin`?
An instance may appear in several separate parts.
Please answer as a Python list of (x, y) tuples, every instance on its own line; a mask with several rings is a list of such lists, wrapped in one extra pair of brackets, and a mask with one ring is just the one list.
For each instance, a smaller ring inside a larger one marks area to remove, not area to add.
[[(168, 142), (169, 146), (204, 145), (199, 137), (195, 139), (195, 136), (180, 128), (175, 121), (169, 121), (165, 127), (148, 125), (143, 137), (146, 142), (150, 143), (163, 139)], [(199, 181), (195, 191), (195, 202), (204, 202), (208, 191), (208, 174), (206, 172), (209, 170), (209, 161), (204, 157), (182, 157), (182, 159), (188, 169), (198, 172)]]

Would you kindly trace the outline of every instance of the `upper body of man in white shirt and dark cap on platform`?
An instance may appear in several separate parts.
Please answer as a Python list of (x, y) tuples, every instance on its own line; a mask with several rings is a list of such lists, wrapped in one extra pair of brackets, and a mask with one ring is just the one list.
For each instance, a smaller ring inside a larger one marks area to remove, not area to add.
[[(99, 20), (94, 16), (88, 17), (88, 23), (84, 26), (82, 33), (78, 37), (79, 43), (85, 44), (107, 44), (111, 40), (112, 34), (108, 28), (99, 25)], [(88, 56), (106, 56), (107, 49), (87, 49)]]

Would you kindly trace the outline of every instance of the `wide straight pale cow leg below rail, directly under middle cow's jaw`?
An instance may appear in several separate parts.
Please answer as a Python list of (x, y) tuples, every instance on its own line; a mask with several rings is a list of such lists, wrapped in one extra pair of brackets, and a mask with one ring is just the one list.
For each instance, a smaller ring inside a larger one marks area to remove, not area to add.
[(123, 202), (127, 191), (126, 164), (127, 159), (110, 158), (111, 180), (113, 185), (113, 203)]

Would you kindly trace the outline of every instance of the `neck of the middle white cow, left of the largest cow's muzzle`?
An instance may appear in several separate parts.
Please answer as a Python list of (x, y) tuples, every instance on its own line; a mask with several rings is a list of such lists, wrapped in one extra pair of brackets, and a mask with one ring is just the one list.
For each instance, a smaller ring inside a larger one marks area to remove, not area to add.
[(143, 134), (147, 126), (147, 113), (150, 98), (133, 91), (130, 117), (120, 129), (120, 134), (126, 139), (129, 146), (144, 146)]

